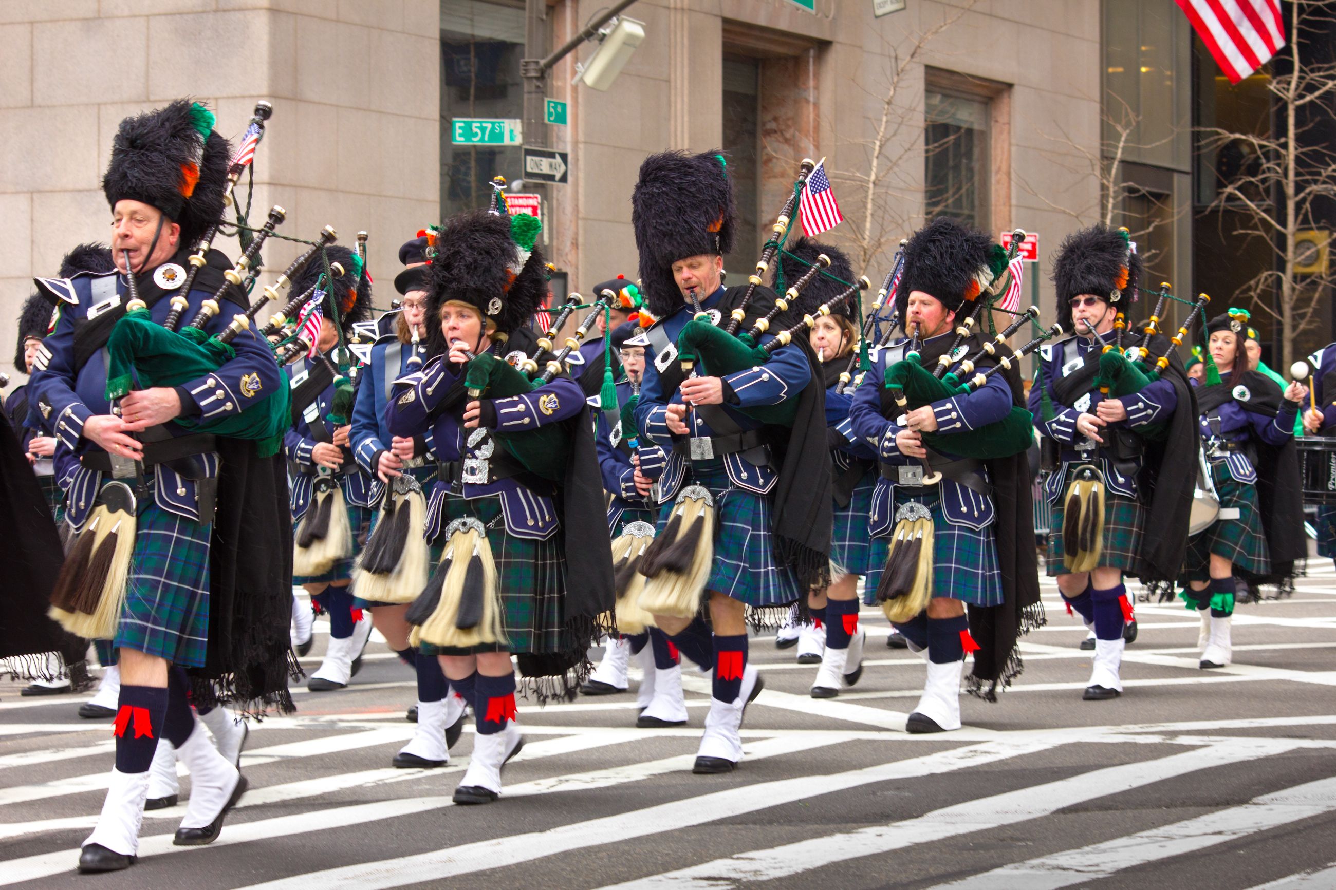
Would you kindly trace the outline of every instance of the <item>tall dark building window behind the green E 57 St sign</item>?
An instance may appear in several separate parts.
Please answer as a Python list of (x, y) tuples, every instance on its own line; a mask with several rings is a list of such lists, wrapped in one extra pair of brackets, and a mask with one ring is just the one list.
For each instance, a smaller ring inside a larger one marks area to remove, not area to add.
[(456, 117), (521, 119), (524, 4), (441, 0), (441, 216), (486, 207), (496, 175), (521, 171), (518, 145), (457, 145)]

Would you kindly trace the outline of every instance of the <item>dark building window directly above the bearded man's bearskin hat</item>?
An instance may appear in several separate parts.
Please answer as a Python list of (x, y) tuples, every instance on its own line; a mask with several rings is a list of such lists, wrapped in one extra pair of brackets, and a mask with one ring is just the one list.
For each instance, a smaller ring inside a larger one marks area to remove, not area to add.
[(926, 216), (989, 231), (989, 101), (929, 89), (923, 105)]

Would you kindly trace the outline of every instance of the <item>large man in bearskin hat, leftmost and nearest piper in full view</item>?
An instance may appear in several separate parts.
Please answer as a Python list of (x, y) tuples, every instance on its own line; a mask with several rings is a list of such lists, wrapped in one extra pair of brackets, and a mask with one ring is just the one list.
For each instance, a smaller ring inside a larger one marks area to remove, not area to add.
[[(155, 322), (172, 311), (170, 298), (187, 278), (191, 247), (222, 219), (230, 153), (227, 141), (212, 132), (212, 115), (199, 104), (175, 101), (127, 117), (103, 179), (116, 271), (37, 282), (39, 291), (59, 303), (61, 319), (39, 350), (33, 404), (80, 460), (65, 519), (83, 536), (67, 568), (77, 572), (80, 584), (102, 587), (99, 604), (123, 596), (111, 640), (120, 666), (116, 769), (98, 827), (84, 841), (81, 871), (112, 871), (135, 862), (159, 735), (175, 746), (192, 777), (175, 843), (216, 839), (227, 810), (246, 790), (246, 779), (195, 721), (182, 669), (204, 669), (246, 698), (287, 702), (286, 686), (247, 686), (255, 678), (269, 682), (287, 674), (286, 639), (274, 636), (267, 620), (282, 614), (286, 622), (290, 598), (283, 588), (287, 556), (274, 546), (283, 536), (278, 523), (286, 512), (279, 504), (286, 500), (281, 462), (259, 458), (253, 442), (195, 431), (278, 391), (282, 376), (269, 344), (242, 334), (232, 340), (235, 358), (216, 371), (178, 387), (132, 391), (116, 406), (106, 398), (107, 370), (99, 358), (126, 314), (127, 276), (135, 276)], [(208, 252), (194, 287), (182, 295), (188, 302), (184, 318), (195, 318), (215, 292), (223, 295), (214, 318), (199, 316), (208, 334), (220, 332), (246, 307), (243, 292), (224, 290), (224, 268), (231, 268), (226, 258)], [(246, 519), (235, 512), (240, 503)], [(116, 523), (110, 532), (87, 527), (95, 507)], [(238, 523), (231, 531), (239, 528), (239, 538), (211, 540), (214, 526), (228, 523)], [(96, 559), (81, 562), (84, 538), (91, 543), (98, 534), (120, 551), (123, 542), (112, 539), (118, 531), (128, 538), (127, 527), (135, 528), (128, 564), (114, 555), (102, 578)], [(227, 578), (211, 564), (227, 567)], [(214, 610), (257, 620), (219, 622), (226, 636), (215, 639)], [(259, 660), (238, 660), (257, 654)]]

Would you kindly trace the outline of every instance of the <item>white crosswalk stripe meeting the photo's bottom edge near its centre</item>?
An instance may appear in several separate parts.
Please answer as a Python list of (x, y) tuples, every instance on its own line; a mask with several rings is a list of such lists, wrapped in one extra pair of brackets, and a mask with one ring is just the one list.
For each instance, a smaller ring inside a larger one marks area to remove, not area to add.
[(1250, 742), (1238, 739), (1238, 745), (1212, 746), (1172, 754), (1156, 761), (1093, 770), (1057, 782), (966, 801), (914, 819), (811, 838), (768, 850), (751, 850), (679, 871), (613, 886), (619, 889), (636, 887), (636, 890), (661, 890), (665, 887), (672, 890), (719, 890), (719, 887), (733, 886), (743, 881), (787, 878), (836, 862), (886, 854), (955, 835), (1037, 819), (1093, 798), (1129, 791), (1202, 769), (1248, 761), (1261, 754), (1281, 753), (1291, 747), (1284, 739), (1256, 739), (1256, 745)]

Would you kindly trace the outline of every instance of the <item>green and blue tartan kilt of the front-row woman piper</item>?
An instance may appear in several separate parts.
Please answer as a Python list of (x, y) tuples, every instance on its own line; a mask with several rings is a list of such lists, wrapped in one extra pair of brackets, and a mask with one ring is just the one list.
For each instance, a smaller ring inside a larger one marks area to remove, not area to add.
[[(426, 655), (470, 655), (473, 652), (560, 652), (565, 620), (566, 559), (565, 538), (556, 534), (546, 540), (517, 538), (506, 531), (501, 516), (501, 498), (446, 496), (441, 506), (441, 527), (462, 516), (473, 516), (488, 530), (488, 544), (497, 566), (501, 591), (501, 630), (506, 643), (477, 646), (469, 650), (422, 643)], [(432, 567), (445, 551), (445, 538), (432, 543)]]

